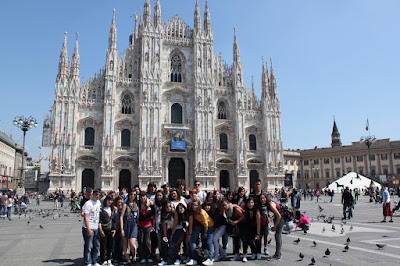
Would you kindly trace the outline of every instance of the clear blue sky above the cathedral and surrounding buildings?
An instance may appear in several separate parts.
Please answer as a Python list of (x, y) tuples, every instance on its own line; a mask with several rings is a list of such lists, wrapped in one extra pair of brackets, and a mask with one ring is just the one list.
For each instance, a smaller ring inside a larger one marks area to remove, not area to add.
[[(70, 56), (79, 32), (80, 73), (88, 79), (105, 63), (113, 8), (122, 52), (134, 27), (131, 16), (144, 2), (1, 1), (0, 130), (22, 144), (12, 120), (37, 118), (27, 150), (38, 159), (64, 31)], [(199, 5), (203, 19), (205, 0)], [(195, 0), (161, 0), (162, 21), (179, 14), (192, 27), (194, 6)], [(209, 8), (215, 51), (232, 63), (236, 26), (244, 79), (251, 87), (254, 75), (258, 96), (261, 57), (272, 57), (285, 149), (330, 146), (333, 116), (345, 145), (366, 134), (367, 117), (377, 138), (400, 139), (400, 1), (209, 0)]]

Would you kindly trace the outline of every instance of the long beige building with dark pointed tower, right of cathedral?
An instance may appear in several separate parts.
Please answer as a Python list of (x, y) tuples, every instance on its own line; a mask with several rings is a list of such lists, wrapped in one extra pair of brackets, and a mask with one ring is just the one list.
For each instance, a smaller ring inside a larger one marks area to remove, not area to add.
[[(369, 157), (368, 147), (362, 141), (342, 145), (336, 122), (331, 136), (331, 147), (297, 151), (300, 160), (299, 174), (294, 182), (296, 187), (324, 188), (349, 172), (372, 178), (383, 177), (381, 181), (394, 181), (393, 184), (398, 185), (400, 141), (375, 140), (370, 146)], [(286, 159), (285, 156), (285, 162)]]

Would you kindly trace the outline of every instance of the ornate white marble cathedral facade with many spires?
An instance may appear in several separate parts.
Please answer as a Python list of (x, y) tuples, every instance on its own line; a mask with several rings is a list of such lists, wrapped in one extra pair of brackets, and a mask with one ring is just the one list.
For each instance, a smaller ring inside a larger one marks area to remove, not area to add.
[[(199, 180), (207, 190), (283, 185), (281, 112), (272, 67), (262, 64), (258, 99), (243, 82), (236, 30), (233, 63), (213, 49), (206, 3), (193, 29), (175, 16), (161, 23), (147, 0), (129, 46), (117, 50), (115, 10), (105, 66), (80, 81), (78, 34), (72, 62), (67, 35), (51, 116), (45, 121), (50, 190), (115, 190), (149, 182)], [(46, 136), (45, 136), (46, 135)]]

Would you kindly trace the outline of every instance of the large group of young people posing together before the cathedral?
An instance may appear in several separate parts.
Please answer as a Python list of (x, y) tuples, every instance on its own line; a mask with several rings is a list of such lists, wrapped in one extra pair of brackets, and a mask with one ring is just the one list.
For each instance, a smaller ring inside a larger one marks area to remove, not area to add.
[(225, 195), (201, 190), (199, 181), (186, 190), (184, 180), (178, 180), (176, 188), (164, 184), (159, 190), (150, 183), (146, 192), (138, 186), (107, 194), (87, 188), (81, 206), (86, 265), (133, 261), (212, 265), (226, 258), (229, 237), (232, 260), (246, 262), (269, 255), (270, 231), (275, 232), (276, 251), (268, 259), (282, 256), (287, 214), (282, 204), (262, 191), (260, 180), (252, 193), (240, 187)]

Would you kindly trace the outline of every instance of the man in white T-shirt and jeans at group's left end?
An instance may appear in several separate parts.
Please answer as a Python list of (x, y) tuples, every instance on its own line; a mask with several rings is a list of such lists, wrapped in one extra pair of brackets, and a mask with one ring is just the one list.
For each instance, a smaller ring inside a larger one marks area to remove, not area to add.
[[(100, 266), (97, 263), (97, 256), (100, 249), (100, 191), (95, 190), (93, 196), (83, 205), (83, 225), (82, 235), (85, 242), (83, 249), (83, 259), (85, 265)], [(93, 247), (92, 247), (93, 244)]]

